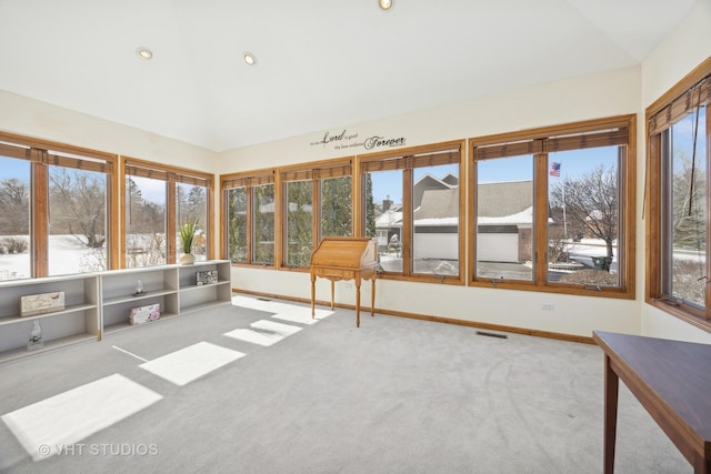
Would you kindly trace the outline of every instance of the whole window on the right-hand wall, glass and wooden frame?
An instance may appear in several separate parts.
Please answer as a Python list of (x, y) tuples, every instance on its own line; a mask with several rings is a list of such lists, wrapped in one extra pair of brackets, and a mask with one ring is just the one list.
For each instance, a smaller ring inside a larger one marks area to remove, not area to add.
[(647, 301), (711, 330), (711, 60), (647, 110)]

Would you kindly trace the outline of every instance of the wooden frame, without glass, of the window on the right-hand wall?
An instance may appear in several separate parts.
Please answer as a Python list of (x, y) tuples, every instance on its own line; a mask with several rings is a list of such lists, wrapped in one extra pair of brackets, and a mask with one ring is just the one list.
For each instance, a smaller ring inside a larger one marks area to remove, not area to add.
[[(705, 81), (704, 81), (705, 79)], [(699, 64), (693, 71), (681, 79), (670, 90), (657, 99), (645, 111), (645, 137), (647, 145), (647, 178), (645, 178), (645, 291), (644, 302), (660, 311), (671, 314), (693, 326), (707, 332), (711, 332), (711, 303), (705, 304), (705, 311), (699, 310), (672, 295), (664, 294), (663, 283), (667, 275), (663, 272), (664, 259), (668, 259), (664, 251), (663, 234), (663, 190), (668, 185), (664, 181), (663, 160), (662, 160), (662, 135), (665, 130), (679, 119), (680, 115), (689, 111), (689, 107), (694, 107), (688, 100), (691, 97), (690, 91), (695, 91), (697, 84), (703, 82), (701, 91), (702, 104), (707, 104), (707, 153), (704, 157), (707, 163), (711, 161), (711, 57)], [(693, 98), (695, 100), (695, 94)], [(707, 173), (711, 171), (707, 170)], [(709, 182), (709, 175), (705, 177)], [(711, 192), (707, 190), (709, 195)], [(707, 256), (710, 254), (709, 235), (707, 231)], [(711, 262), (707, 258), (707, 269)], [(707, 274), (709, 271), (707, 270)], [(711, 302), (711, 285), (705, 288), (707, 301)]]

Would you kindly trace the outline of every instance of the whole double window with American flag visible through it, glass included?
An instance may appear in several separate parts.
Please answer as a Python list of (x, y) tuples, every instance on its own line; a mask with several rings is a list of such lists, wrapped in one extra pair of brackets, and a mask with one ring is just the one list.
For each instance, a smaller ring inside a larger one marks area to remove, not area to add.
[(633, 297), (634, 117), (471, 141), (471, 283)]

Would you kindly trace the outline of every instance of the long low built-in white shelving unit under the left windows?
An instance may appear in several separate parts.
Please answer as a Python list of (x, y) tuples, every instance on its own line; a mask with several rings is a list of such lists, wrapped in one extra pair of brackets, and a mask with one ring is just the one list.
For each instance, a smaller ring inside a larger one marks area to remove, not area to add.
[[(197, 272), (214, 270), (218, 281), (197, 284)], [(138, 281), (142, 294), (136, 294)], [(64, 292), (64, 310), (20, 315), (20, 296)], [(0, 362), (83, 341), (100, 341), (131, 325), (131, 309), (160, 304), (154, 324), (182, 313), (229, 304), (232, 285), (229, 261), (204, 261), (192, 265), (146, 266), (31, 280), (0, 282)], [(28, 351), (34, 320), (42, 327), (44, 347)]]

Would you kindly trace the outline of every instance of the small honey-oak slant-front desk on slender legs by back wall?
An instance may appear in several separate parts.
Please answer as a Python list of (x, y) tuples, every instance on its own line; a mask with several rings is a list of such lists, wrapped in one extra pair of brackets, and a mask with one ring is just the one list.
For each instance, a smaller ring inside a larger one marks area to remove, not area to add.
[(311, 317), (316, 313), (316, 278), (331, 281), (356, 280), (356, 326), (360, 327), (360, 282), (371, 280), (370, 315), (375, 309), (375, 276), (378, 273), (378, 241), (367, 238), (324, 238), (311, 253)]

